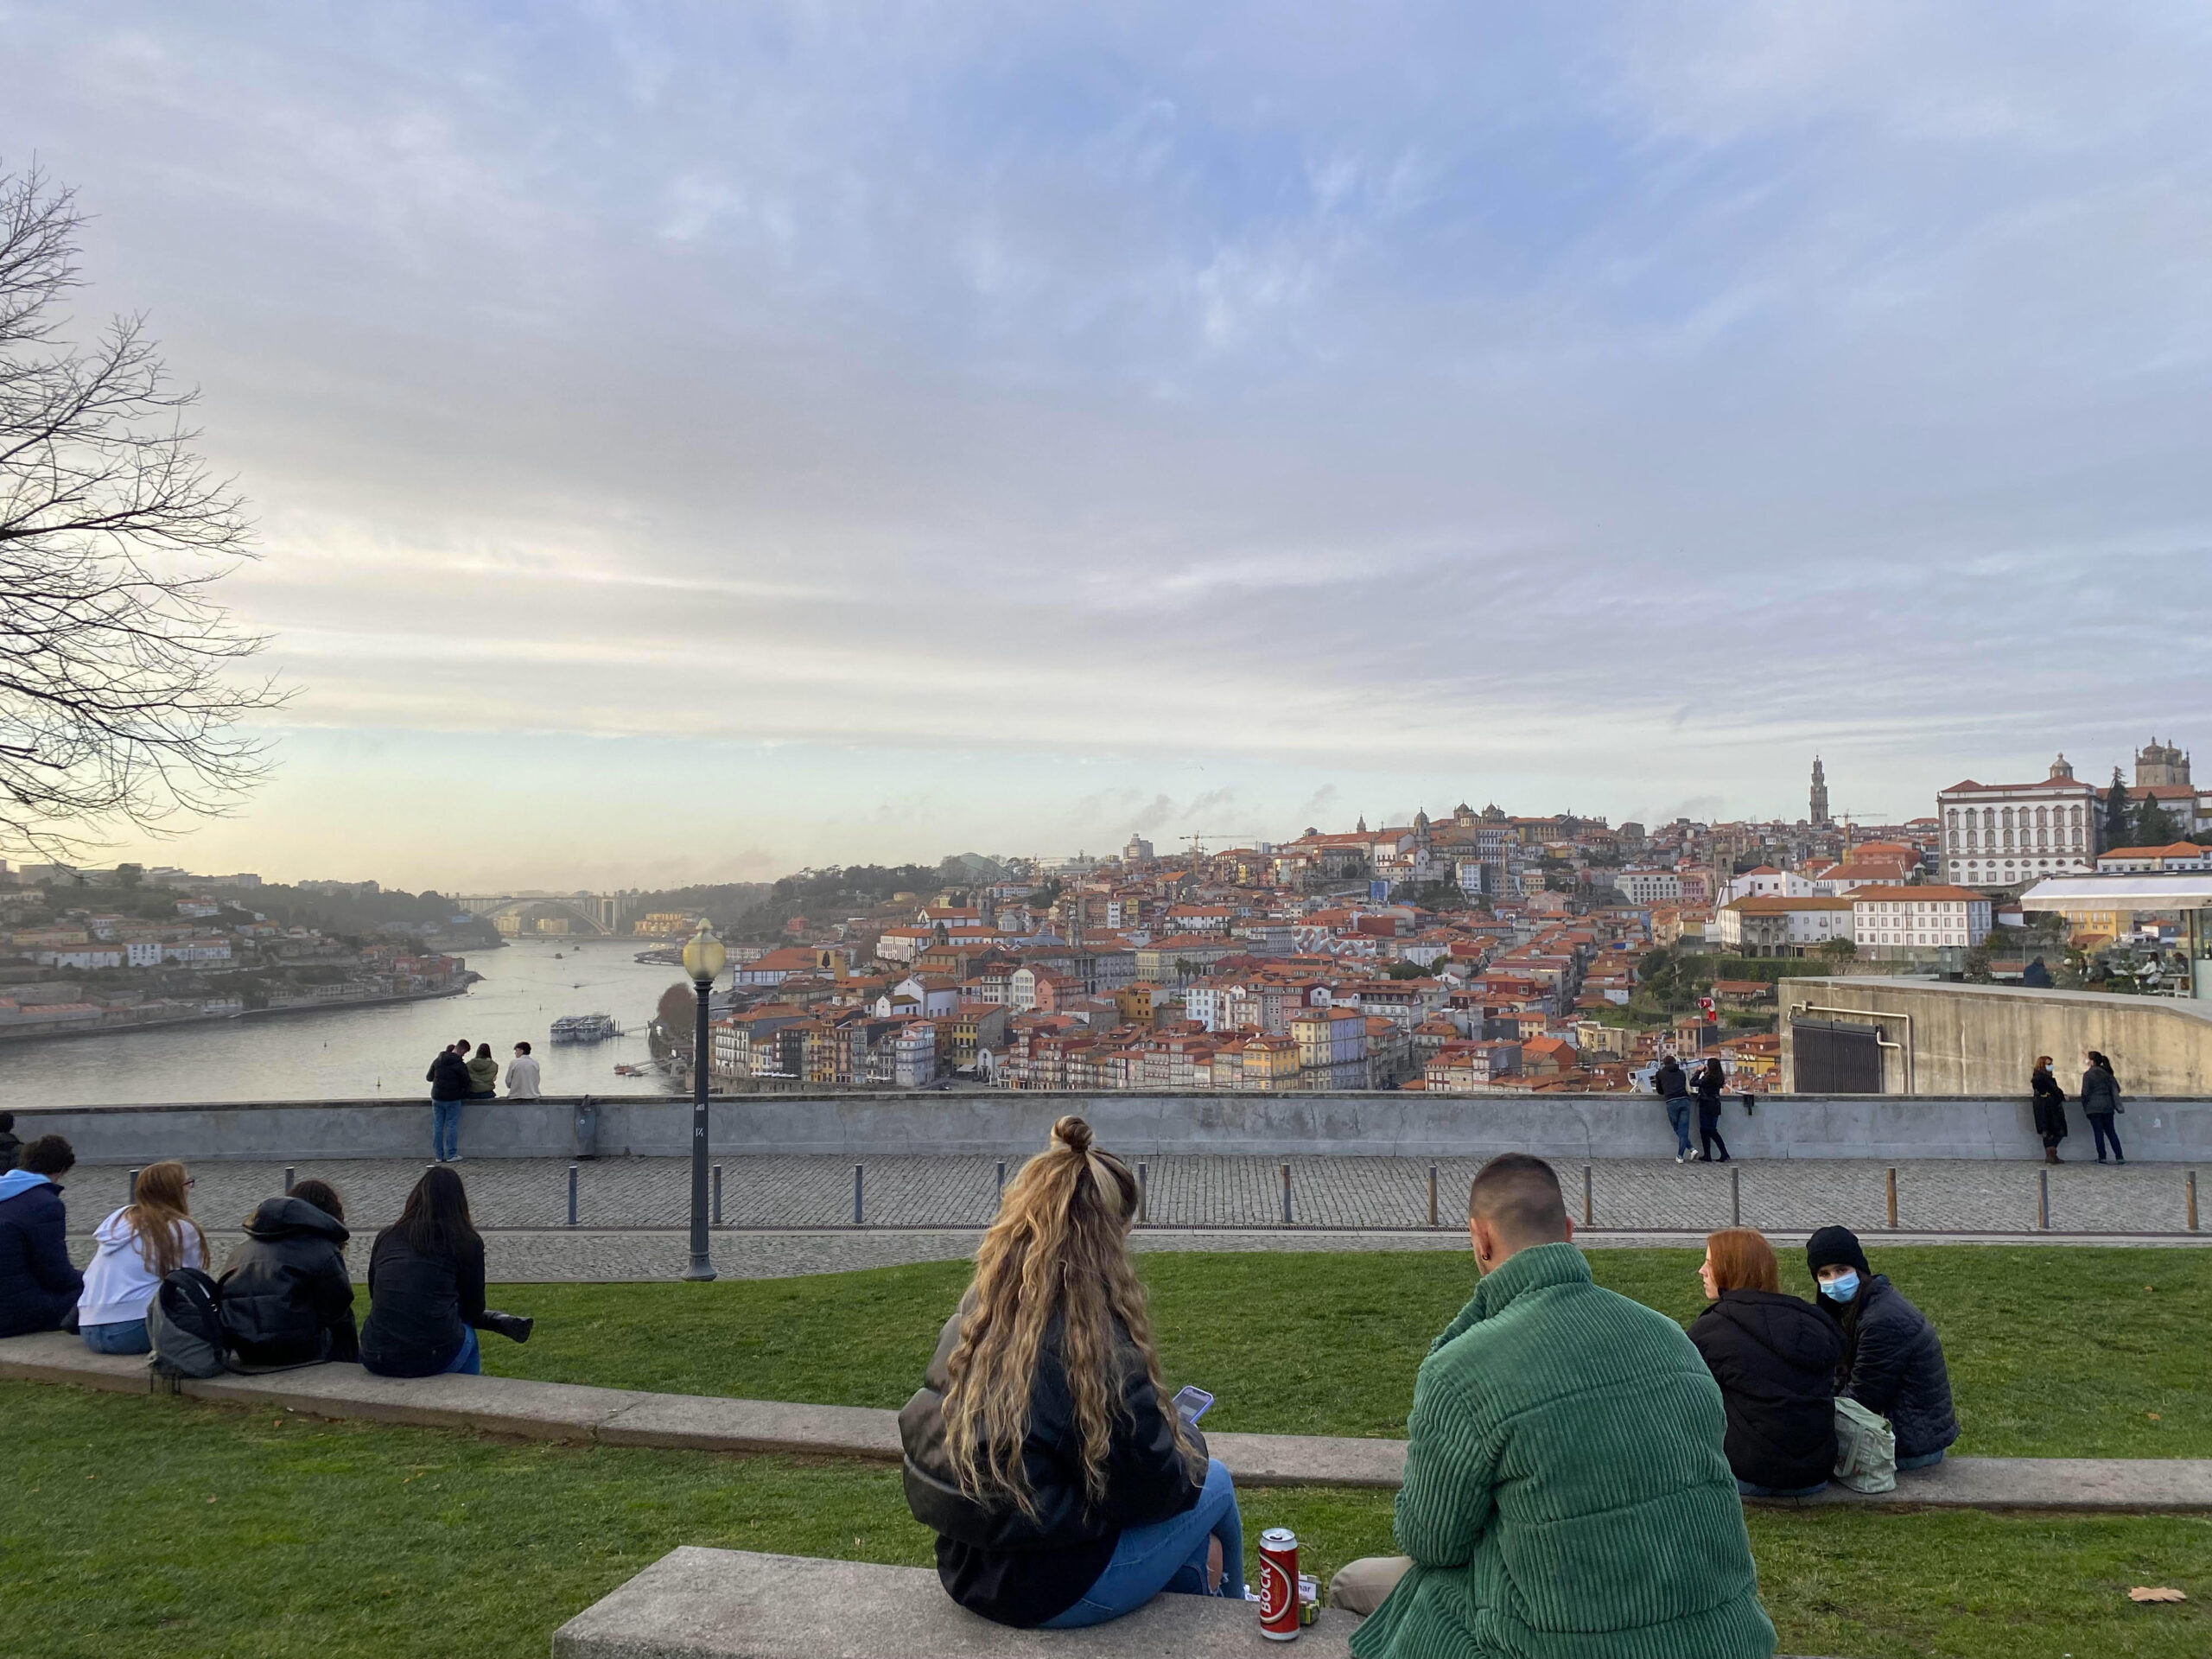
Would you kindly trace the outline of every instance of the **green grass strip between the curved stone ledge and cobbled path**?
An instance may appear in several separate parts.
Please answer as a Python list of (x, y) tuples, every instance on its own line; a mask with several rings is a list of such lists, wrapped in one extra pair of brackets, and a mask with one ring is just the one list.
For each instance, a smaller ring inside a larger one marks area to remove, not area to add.
[[(1593, 1250), (1601, 1285), (1690, 1321), (1694, 1250)], [(1210, 1429), (1400, 1436), (1413, 1369), (1460, 1310), (1464, 1254), (1146, 1254), (1172, 1383), (1219, 1396)], [(1874, 1245), (1936, 1321), (1960, 1453), (2212, 1455), (2212, 1252)], [(1785, 1290), (1812, 1294), (1803, 1254)], [(920, 1383), (967, 1263), (714, 1285), (502, 1285), (538, 1314), (529, 1347), (484, 1343), (502, 1376), (761, 1400), (898, 1407)]]

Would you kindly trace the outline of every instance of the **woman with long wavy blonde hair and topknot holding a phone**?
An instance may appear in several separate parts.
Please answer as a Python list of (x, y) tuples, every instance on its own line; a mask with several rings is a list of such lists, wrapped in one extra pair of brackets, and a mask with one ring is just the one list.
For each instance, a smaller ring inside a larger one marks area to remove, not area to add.
[(1161, 1590), (1243, 1597), (1230, 1473), (1161, 1398), (1135, 1217), (1128, 1166), (1082, 1117), (1053, 1124), (898, 1413), (938, 1579), (998, 1624), (1073, 1630)]

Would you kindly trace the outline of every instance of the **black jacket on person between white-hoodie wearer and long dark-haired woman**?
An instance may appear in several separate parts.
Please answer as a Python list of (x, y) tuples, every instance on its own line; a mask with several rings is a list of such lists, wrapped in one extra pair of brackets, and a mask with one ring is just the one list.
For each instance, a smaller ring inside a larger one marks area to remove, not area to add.
[(223, 1267), (223, 1334), (248, 1365), (361, 1356), (345, 1223), (305, 1199), (263, 1199)]

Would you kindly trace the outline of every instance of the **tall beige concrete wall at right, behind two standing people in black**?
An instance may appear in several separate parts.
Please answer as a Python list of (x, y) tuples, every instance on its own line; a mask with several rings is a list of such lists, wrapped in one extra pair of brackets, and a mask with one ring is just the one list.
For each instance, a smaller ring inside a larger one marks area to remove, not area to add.
[(2073, 1095), (2084, 1053), (2095, 1048), (2110, 1055), (2128, 1099), (2212, 1095), (2212, 1002), (1840, 975), (1783, 980), (1776, 1000), (1785, 1084), (1796, 1077), (1790, 1009), (1812, 1004), (1867, 1013), (1900, 1044), (1882, 1051), (1887, 1093), (2024, 1097), (2035, 1055), (2051, 1055), (2051, 1071)]

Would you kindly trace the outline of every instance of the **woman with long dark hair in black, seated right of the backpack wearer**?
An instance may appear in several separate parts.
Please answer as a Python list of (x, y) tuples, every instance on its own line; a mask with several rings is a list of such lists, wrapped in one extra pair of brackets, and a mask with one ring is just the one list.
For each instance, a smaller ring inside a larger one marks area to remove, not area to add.
[(436, 1164), (414, 1183), (400, 1219), (369, 1245), (361, 1365), (376, 1376), (478, 1376), (478, 1329), (531, 1338), (531, 1321), (484, 1307), (484, 1239), (469, 1221), (469, 1192)]

